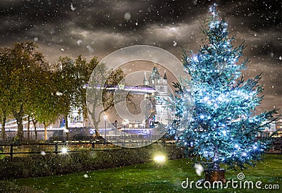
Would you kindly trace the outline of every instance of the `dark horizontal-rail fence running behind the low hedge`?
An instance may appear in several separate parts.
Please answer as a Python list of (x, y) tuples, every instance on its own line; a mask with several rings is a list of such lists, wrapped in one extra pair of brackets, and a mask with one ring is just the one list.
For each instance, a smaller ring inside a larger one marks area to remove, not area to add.
[[(115, 144), (117, 145), (113, 145), (111, 142), (116, 142)], [(0, 155), (9, 155), (11, 160), (13, 160), (13, 156), (18, 154), (65, 154), (80, 152), (82, 149), (91, 151), (108, 151), (110, 149), (123, 149), (123, 143), (125, 142), (144, 144), (152, 143), (150, 141), (144, 140), (144, 138), (136, 138), (130, 141), (125, 141), (125, 139), (122, 137), (109, 137), (105, 141), (103, 138), (93, 139), (89, 137), (86, 139), (78, 137), (66, 140), (65, 137), (62, 137), (54, 139), (52, 142), (0, 144)], [(161, 138), (156, 142), (164, 143), (164, 139)], [(171, 141), (166, 142), (171, 143)], [(121, 146), (118, 146), (118, 144), (121, 144)]]

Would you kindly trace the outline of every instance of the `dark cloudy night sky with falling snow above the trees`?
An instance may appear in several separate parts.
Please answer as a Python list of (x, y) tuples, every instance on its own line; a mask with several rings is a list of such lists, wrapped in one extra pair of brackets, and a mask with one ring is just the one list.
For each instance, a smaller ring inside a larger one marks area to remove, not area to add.
[[(280, 0), (221, 0), (235, 44), (245, 41), (246, 77), (262, 72), (264, 101), (259, 111), (282, 109)], [(197, 0), (1, 0), (0, 45), (34, 41), (47, 61), (82, 54), (104, 58), (125, 46), (147, 44), (181, 59), (181, 48), (197, 52), (200, 23), (213, 1)], [(281, 110), (280, 110), (281, 112)]]

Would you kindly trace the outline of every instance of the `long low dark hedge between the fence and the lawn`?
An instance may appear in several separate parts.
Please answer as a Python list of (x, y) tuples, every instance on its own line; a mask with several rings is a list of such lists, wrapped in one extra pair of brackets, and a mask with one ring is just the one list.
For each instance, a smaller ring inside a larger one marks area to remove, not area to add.
[(162, 147), (152, 144), (138, 149), (109, 149), (104, 151), (80, 151), (68, 154), (32, 154), (0, 159), (0, 180), (8, 178), (27, 178), (47, 175), (61, 175), (79, 171), (101, 170), (146, 163), (152, 160), (154, 151), (161, 151), (168, 158), (183, 157), (182, 149), (167, 144)]

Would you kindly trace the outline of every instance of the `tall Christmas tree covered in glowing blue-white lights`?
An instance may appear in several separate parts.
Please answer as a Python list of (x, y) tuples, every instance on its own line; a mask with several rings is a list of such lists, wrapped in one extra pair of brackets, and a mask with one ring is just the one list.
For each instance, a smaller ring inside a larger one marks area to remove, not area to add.
[(271, 137), (258, 136), (274, 120), (276, 110), (256, 115), (263, 99), (260, 75), (243, 79), (241, 71), (248, 59), (239, 58), (245, 46), (233, 46), (235, 36), (228, 37), (228, 24), (219, 17), (216, 5), (209, 11), (212, 15), (201, 27), (207, 43), (197, 54), (183, 51), (190, 78), (174, 84), (176, 119), (170, 131), (188, 156), (205, 161), (209, 168), (219, 170), (219, 164), (225, 163), (242, 169), (245, 164), (254, 166), (269, 148)]

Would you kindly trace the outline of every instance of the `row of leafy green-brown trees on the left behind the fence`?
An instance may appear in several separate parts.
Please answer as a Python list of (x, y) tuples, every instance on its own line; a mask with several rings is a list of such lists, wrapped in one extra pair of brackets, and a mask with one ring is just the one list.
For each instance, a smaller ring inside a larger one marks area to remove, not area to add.
[[(0, 49), (0, 118), (1, 138), (6, 140), (5, 125), (8, 119), (16, 119), (18, 134), (21, 142), (23, 135), (23, 119), (27, 117), (27, 139), (30, 139), (30, 123), (41, 123), (45, 128), (47, 139), (47, 126), (58, 118), (66, 120), (68, 129), (68, 113), (71, 108), (79, 108), (83, 116), (87, 116), (86, 88), (88, 80), (94, 69), (105, 76), (107, 85), (117, 85), (123, 79), (123, 71), (111, 69), (106, 64), (99, 63), (94, 56), (90, 61), (81, 55), (73, 59), (69, 56), (60, 56), (56, 63), (49, 63), (39, 46), (34, 42), (20, 42), (12, 47)], [(110, 73), (110, 74), (109, 74)], [(96, 80), (93, 84), (99, 85), (104, 80)], [(103, 95), (102, 104), (104, 110), (108, 110), (113, 104), (113, 94)], [(99, 100), (99, 97), (97, 98)], [(95, 108), (95, 105), (92, 106)], [(94, 128), (97, 135), (99, 131), (99, 119), (94, 120)], [(35, 132), (37, 139), (37, 132)]]

